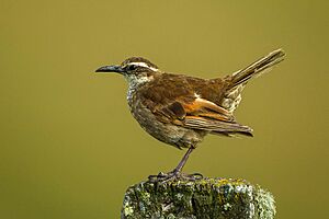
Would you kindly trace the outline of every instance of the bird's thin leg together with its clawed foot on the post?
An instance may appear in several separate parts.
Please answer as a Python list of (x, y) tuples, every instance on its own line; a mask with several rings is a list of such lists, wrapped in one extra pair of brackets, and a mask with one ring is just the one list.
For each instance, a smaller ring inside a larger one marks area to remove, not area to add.
[(190, 154), (192, 153), (192, 151), (194, 150), (194, 147), (190, 147), (189, 150), (186, 151), (186, 153), (184, 154), (184, 157), (182, 158), (182, 160), (179, 162), (178, 166), (175, 169), (173, 169), (172, 171), (170, 171), (169, 173), (159, 173), (158, 175), (150, 175), (148, 176), (149, 181), (151, 182), (167, 182), (169, 180), (173, 180), (173, 178), (186, 178), (186, 180), (197, 180), (197, 178), (202, 178), (202, 175), (200, 173), (196, 174), (190, 174), (190, 175), (185, 175), (182, 174), (182, 170), (190, 157)]

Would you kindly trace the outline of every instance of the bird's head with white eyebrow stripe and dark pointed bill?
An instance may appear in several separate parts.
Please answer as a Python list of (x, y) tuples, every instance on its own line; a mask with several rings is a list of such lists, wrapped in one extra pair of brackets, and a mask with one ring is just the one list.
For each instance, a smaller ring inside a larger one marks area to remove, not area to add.
[(139, 85), (144, 82), (151, 81), (154, 77), (160, 73), (156, 65), (141, 57), (132, 57), (124, 60), (121, 65), (104, 66), (95, 72), (107, 73), (116, 72), (123, 74), (129, 85)]

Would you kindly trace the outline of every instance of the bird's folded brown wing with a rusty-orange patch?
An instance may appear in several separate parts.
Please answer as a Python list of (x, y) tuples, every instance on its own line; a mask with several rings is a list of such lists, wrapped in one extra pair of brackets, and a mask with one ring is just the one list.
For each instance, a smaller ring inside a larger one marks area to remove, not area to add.
[[(207, 85), (205, 80), (195, 78), (193, 80), (200, 80), (197, 84)], [(166, 84), (166, 88), (162, 84)], [(203, 97), (203, 94), (198, 94), (185, 78), (177, 77), (174, 81), (164, 78), (149, 85), (141, 93), (144, 93), (144, 105), (162, 123), (209, 132), (251, 135), (252, 130), (238, 124), (231, 112)]]

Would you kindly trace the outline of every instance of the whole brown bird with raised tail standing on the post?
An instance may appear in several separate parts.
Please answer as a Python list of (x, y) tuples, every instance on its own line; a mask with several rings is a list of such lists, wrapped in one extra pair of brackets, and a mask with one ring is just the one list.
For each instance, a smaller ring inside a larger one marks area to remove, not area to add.
[(276, 49), (232, 74), (214, 79), (169, 73), (143, 57), (103, 66), (95, 72), (122, 74), (128, 83), (129, 111), (140, 127), (167, 145), (186, 149), (172, 171), (150, 175), (149, 181), (195, 180), (202, 174), (184, 174), (182, 169), (206, 135), (253, 136), (250, 127), (236, 120), (234, 112), (246, 84), (284, 57), (284, 50)]

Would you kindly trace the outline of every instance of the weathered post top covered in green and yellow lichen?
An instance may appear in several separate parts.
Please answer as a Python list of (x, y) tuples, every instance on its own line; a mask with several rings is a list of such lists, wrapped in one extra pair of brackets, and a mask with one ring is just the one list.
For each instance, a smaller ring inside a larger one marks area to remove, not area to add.
[(122, 219), (272, 219), (271, 193), (245, 180), (141, 182), (125, 194)]

